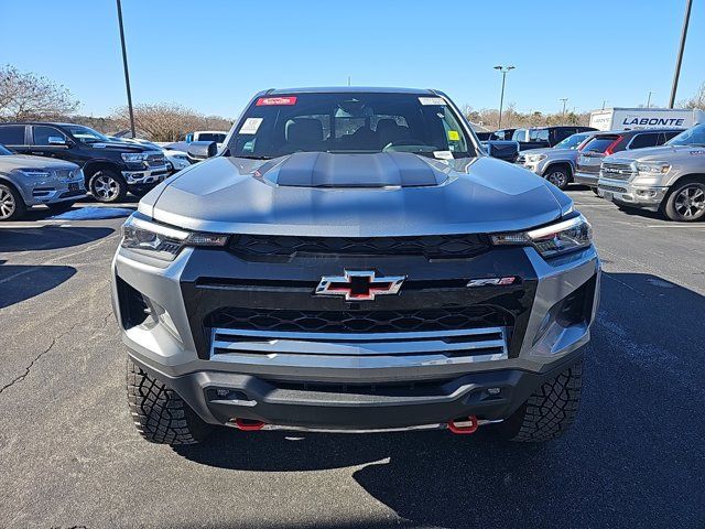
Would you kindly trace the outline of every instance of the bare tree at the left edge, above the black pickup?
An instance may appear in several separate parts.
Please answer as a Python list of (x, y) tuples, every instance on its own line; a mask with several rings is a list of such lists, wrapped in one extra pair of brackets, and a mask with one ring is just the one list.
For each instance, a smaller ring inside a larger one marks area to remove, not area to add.
[(14, 66), (0, 67), (0, 120), (46, 119), (76, 111), (79, 102), (63, 85)]

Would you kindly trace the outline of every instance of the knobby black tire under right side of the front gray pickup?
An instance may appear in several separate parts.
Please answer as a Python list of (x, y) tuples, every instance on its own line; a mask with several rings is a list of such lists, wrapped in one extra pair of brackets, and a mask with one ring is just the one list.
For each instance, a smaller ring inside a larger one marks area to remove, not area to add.
[(574, 364), (536, 389), (509, 419), (498, 424), (509, 441), (536, 443), (564, 433), (577, 415), (583, 363)]

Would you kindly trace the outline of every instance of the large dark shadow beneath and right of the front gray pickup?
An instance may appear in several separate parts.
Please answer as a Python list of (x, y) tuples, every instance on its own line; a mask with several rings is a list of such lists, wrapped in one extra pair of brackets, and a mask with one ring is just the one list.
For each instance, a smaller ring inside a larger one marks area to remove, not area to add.
[(544, 444), (505, 442), (489, 429), (471, 436), (223, 429), (175, 450), (239, 471), (359, 466), (352, 477), (368, 494), (422, 527), (703, 527), (704, 322), (696, 292), (654, 276), (606, 273), (581, 414), (568, 434)]

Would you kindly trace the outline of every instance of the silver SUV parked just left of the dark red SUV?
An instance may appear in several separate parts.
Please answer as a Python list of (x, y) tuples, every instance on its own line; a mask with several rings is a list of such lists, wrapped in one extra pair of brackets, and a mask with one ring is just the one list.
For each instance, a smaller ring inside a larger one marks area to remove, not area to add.
[(565, 190), (573, 182), (577, 149), (593, 134), (594, 132), (578, 132), (555, 147), (520, 152), (517, 163), (522, 163), (529, 171), (543, 176), (560, 190)]

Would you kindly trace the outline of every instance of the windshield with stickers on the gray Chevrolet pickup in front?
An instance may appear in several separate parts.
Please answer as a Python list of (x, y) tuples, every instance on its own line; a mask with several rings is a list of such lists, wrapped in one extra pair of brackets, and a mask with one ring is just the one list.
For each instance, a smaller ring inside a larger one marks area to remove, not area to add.
[(245, 112), (229, 154), (413, 152), (470, 158), (475, 150), (441, 97), (414, 94), (291, 94), (261, 97)]

